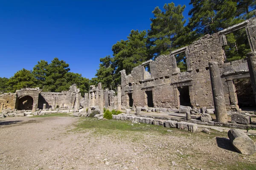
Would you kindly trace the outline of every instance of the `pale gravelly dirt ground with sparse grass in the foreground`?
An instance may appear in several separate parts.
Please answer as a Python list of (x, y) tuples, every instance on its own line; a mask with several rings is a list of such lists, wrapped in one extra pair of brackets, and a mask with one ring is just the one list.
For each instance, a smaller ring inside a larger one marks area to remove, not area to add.
[(51, 116), (0, 119), (0, 136), (3, 170), (256, 168), (256, 154), (237, 153), (226, 133), (214, 131), (191, 133), (117, 120)]

